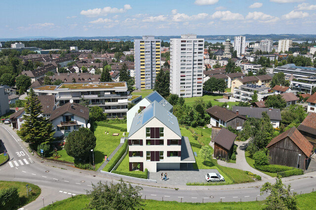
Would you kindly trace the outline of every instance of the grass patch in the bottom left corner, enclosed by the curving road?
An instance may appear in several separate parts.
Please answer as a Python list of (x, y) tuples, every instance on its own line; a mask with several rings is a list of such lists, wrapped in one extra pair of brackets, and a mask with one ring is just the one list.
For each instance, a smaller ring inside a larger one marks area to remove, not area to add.
[[(27, 197), (27, 192), (26, 192), (26, 185), (29, 185), (29, 187), (32, 188), (31, 192), (29, 193), (29, 197)], [(18, 188), (18, 193), (19, 193), (19, 198), (20, 201), (16, 201), (18, 208), (21, 208), (29, 203), (31, 203), (32, 201), (34, 201), (37, 197), (39, 197), (40, 195), (40, 187), (35, 185), (35, 184), (31, 184), (28, 182), (19, 182), (19, 181), (0, 181), (0, 190), (5, 189), (5, 188), (9, 188), (9, 187), (17, 187)]]

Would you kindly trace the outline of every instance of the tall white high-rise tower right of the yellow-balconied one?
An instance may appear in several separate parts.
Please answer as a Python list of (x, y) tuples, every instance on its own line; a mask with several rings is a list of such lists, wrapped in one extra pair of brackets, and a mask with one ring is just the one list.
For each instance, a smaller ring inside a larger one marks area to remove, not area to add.
[(204, 39), (184, 34), (170, 39), (170, 92), (181, 97), (202, 96)]

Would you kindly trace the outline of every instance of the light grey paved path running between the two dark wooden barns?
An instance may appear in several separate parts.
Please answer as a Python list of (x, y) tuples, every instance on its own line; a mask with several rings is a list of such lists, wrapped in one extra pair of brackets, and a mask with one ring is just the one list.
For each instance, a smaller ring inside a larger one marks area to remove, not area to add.
[[(256, 175), (260, 175), (262, 180), (271, 180), (274, 179), (272, 177), (270, 177), (269, 175), (266, 175), (254, 168), (252, 168), (251, 166), (249, 166), (249, 164), (246, 161), (246, 157), (245, 157), (245, 150), (248, 146), (248, 142), (249, 140), (245, 141), (245, 142), (235, 142), (235, 144), (238, 146), (237, 148), (237, 154), (236, 154), (236, 163), (227, 163), (226, 161), (222, 161), (222, 160), (217, 160), (217, 163), (221, 166), (226, 166), (226, 167), (230, 167), (230, 168), (236, 168), (236, 169), (240, 169), (243, 171), (250, 171), (251, 173), (254, 173)], [(210, 143), (211, 147), (214, 148), (214, 144)]]

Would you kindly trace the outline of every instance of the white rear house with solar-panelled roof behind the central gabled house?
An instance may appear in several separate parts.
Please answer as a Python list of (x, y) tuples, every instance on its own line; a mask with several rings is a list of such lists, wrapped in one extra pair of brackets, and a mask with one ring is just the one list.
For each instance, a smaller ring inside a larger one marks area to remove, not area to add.
[(139, 111), (144, 110), (154, 101), (161, 104), (168, 112), (173, 112), (173, 106), (155, 90), (127, 111), (127, 132), (129, 132), (132, 121)]

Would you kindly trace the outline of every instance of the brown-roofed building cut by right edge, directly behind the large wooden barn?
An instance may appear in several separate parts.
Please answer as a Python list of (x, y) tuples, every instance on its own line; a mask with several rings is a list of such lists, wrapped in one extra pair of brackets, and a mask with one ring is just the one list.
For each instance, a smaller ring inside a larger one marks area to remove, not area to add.
[(303, 122), (297, 127), (303, 136), (316, 147), (316, 113), (310, 112)]

